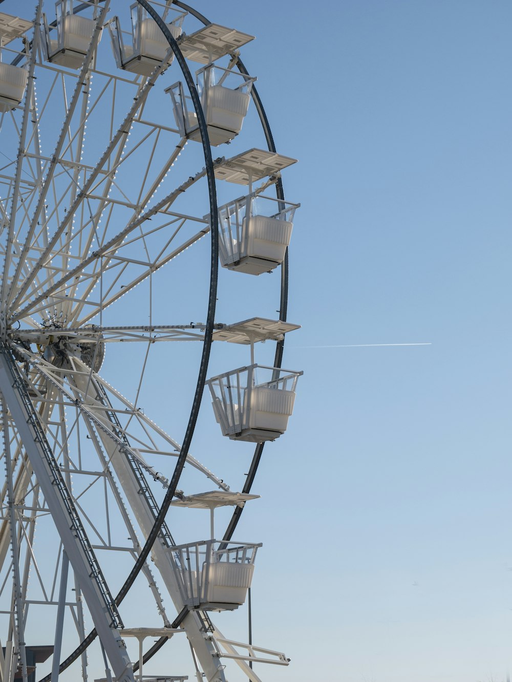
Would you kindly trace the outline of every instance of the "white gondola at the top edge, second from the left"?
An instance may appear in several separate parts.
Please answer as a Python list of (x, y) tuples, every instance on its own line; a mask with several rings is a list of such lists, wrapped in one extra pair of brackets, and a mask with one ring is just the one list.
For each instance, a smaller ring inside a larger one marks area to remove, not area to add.
[[(80, 14), (75, 14), (78, 4), (82, 11)], [(85, 11), (83, 11), (83, 4), (89, 5)], [(54, 64), (79, 69), (93, 38), (96, 27), (93, 12), (97, 10), (97, 5), (92, 2), (74, 3), (73, 0), (57, 0), (55, 9), (57, 14), (55, 26), (49, 26), (46, 14), (43, 14), (42, 43), (46, 59)], [(101, 35), (100, 32), (98, 42)]]

